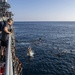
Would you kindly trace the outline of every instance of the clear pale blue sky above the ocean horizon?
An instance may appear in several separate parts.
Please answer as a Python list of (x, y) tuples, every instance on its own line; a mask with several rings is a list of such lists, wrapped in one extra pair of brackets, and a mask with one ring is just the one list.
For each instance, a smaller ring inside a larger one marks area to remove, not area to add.
[(75, 21), (75, 0), (8, 0), (15, 21)]

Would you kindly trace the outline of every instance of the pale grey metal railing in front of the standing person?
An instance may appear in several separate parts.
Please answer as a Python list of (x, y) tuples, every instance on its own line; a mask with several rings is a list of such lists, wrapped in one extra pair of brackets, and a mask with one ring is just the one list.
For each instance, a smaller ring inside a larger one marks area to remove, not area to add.
[(11, 50), (11, 34), (9, 34), (8, 47), (6, 52), (6, 64), (4, 75), (14, 75), (13, 74), (13, 59), (12, 59), (12, 50)]

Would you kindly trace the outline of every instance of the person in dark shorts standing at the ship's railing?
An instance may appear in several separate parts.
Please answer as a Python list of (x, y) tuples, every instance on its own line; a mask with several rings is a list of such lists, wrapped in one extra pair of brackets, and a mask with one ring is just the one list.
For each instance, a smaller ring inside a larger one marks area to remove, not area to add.
[(1, 59), (5, 58), (5, 49), (8, 46), (8, 35), (13, 33), (13, 20), (10, 18), (7, 20), (5, 25), (2, 28), (2, 37), (1, 37)]

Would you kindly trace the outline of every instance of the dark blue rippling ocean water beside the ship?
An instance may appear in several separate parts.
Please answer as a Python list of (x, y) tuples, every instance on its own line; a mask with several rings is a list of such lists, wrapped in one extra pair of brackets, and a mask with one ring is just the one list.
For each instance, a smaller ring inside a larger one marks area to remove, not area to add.
[(75, 75), (75, 22), (14, 22), (14, 28), (23, 75)]

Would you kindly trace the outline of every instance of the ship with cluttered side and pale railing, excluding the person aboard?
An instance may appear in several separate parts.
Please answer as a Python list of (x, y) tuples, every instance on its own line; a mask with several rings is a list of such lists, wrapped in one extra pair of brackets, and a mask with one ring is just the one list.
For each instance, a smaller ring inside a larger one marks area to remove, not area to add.
[[(13, 13), (9, 11), (11, 8), (7, 0), (0, 0), (0, 38), (2, 36), (2, 26), (7, 19), (13, 19)], [(22, 75), (22, 63), (16, 56), (15, 50), (15, 32), (8, 35), (8, 47), (5, 48), (5, 56), (1, 59), (1, 39), (0, 39), (0, 75)]]

